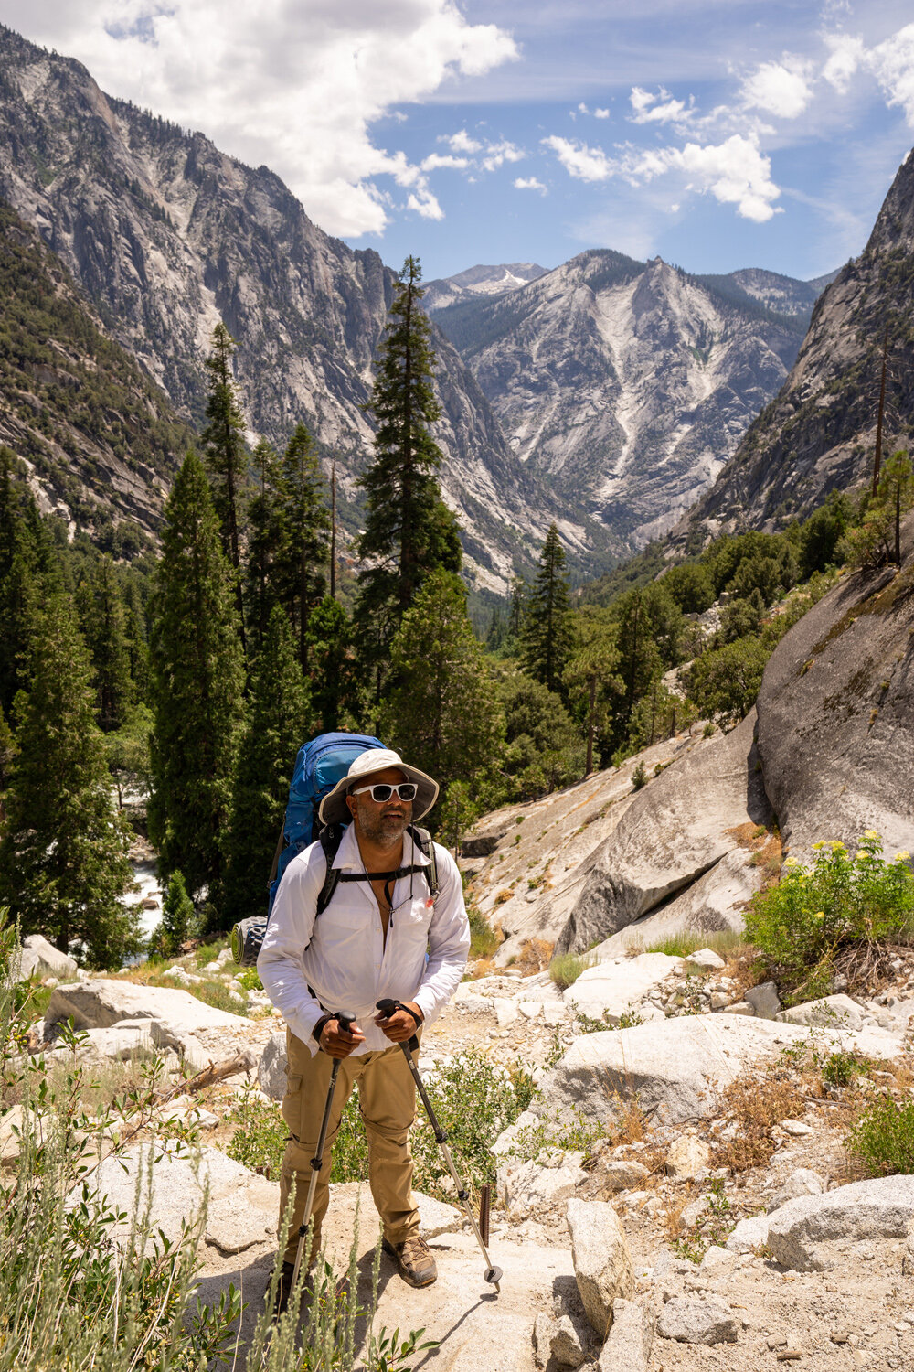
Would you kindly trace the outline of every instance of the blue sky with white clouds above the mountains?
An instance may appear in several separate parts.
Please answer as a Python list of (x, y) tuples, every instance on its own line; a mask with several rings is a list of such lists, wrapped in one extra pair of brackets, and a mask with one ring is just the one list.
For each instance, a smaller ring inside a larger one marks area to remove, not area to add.
[(0, 0), (426, 280), (592, 247), (810, 279), (914, 144), (911, 0)]

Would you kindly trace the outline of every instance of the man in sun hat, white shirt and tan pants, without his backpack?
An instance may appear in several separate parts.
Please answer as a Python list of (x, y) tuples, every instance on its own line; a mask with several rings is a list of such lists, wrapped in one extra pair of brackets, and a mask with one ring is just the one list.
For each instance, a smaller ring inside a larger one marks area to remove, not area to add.
[[(323, 1166), (314, 1195), (311, 1261), (330, 1194), (330, 1150), (352, 1087), (369, 1143), (369, 1183), (384, 1222), (384, 1250), (410, 1286), (430, 1286), (434, 1258), (419, 1235), (412, 1196), (410, 1125), (415, 1087), (399, 1044), (434, 1021), (456, 991), (470, 948), (470, 926), (456, 863), (434, 845), (439, 893), (432, 900), (429, 858), (406, 833), (434, 804), (437, 782), (389, 749), (369, 749), (323, 797), (321, 822), (348, 823), (333, 866), (336, 890), (323, 914), (317, 899), (326, 877), (319, 842), (285, 870), (258, 958), (270, 1000), (288, 1025), (288, 1087), (282, 1115), (289, 1144), (282, 1162), (280, 1222), (295, 1187), (295, 1209), (280, 1277), (285, 1308), (299, 1227), (311, 1180), (333, 1059), (340, 1059)], [(351, 823), (349, 823), (351, 820)], [(406, 868), (407, 874), (393, 874)], [(410, 871), (415, 868), (415, 871)], [(371, 877), (369, 874), (382, 874)], [(365, 879), (358, 879), (363, 877)], [(426, 956), (428, 952), (428, 956)], [(388, 1019), (378, 1000), (402, 1002)], [(344, 1032), (333, 1011), (354, 1013)]]

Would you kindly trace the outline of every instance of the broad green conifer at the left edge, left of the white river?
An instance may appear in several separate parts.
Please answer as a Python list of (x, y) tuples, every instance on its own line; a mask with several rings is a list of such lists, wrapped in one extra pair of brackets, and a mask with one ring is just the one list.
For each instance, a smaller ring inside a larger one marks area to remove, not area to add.
[(141, 947), (132, 834), (111, 801), (96, 693), (73, 602), (49, 595), (36, 622), (29, 689), (16, 700), (16, 756), (10, 768), (0, 842), (0, 904), (23, 933), (59, 948), (78, 940), (96, 967), (118, 967)]

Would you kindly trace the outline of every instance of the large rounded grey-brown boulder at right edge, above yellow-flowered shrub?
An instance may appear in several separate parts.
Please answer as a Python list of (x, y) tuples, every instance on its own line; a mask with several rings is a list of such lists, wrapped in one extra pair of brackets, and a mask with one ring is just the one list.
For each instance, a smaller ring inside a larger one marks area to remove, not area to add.
[(841, 580), (774, 650), (758, 698), (765, 786), (785, 845), (876, 829), (914, 852), (914, 514), (904, 565)]

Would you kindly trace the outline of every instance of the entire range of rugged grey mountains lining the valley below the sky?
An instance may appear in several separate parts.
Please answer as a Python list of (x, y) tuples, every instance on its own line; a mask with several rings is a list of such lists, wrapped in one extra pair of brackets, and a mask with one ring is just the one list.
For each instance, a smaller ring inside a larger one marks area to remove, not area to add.
[[(7, 246), (16, 261), (32, 254), (48, 291), (84, 311), (79, 338), (92, 335), (69, 364), (51, 359), (49, 380), (4, 373), (0, 438), (29, 460), (45, 504), (155, 534), (223, 320), (251, 439), (284, 445), (304, 420), (325, 465), (337, 461), (354, 532), (395, 273), (323, 233), (267, 167), (106, 96), (79, 63), (1, 27), (0, 115)], [(576, 573), (593, 575), (671, 527), (677, 539), (695, 520), (773, 528), (862, 480), (882, 353), (887, 446), (907, 440), (914, 414), (913, 246), (906, 161), (865, 252), (813, 281), (589, 250), (552, 270), (480, 265), (428, 283), (441, 483), (470, 580), (504, 591), (552, 521)], [(45, 328), (38, 346), (55, 339)], [(116, 423), (106, 429), (89, 407), (75, 434), (58, 397), (48, 435), (30, 418), (41, 388), (71, 387), (101, 344), (123, 361)], [(145, 447), (144, 410), (158, 425)]]

